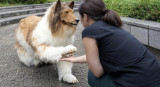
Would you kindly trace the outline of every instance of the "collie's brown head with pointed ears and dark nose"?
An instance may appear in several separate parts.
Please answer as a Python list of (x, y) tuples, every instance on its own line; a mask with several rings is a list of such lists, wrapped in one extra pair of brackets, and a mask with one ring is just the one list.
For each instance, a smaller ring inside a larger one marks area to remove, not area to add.
[(62, 26), (68, 26), (73, 29), (76, 28), (79, 20), (74, 15), (73, 7), (74, 1), (64, 4), (58, 0), (56, 4), (54, 4), (49, 16), (49, 24), (52, 32), (56, 32), (57, 30), (61, 29)]

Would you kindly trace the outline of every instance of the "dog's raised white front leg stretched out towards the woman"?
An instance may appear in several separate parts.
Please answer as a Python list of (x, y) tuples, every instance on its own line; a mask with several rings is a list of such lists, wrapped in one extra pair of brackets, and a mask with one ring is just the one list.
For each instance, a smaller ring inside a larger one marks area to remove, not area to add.
[(37, 55), (39, 56), (40, 60), (44, 62), (55, 62), (59, 61), (62, 58), (63, 54), (72, 53), (77, 51), (77, 48), (73, 45), (68, 45), (66, 47), (53, 47), (48, 46), (45, 44), (38, 45), (37, 47)]

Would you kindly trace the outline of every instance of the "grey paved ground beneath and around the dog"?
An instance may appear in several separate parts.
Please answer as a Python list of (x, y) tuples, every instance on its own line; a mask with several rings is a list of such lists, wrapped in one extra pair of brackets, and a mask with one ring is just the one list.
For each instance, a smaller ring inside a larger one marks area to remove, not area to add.
[[(14, 49), (15, 29), (18, 24), (0, 27), (0, 87), (89, 87), (87, 84), (87, 65), (74, 64), (73, 74), (79, 83), (68, 84), (58, 81), (55, 64), (40, 68), (27, 67), (22, 64)], [(76, 31), (75, 46), (78, 48), (76, 56), (84, 54), (81, 41), (82, 25), (79, 23)], [(149, 48), (160, 59), (160, 51)]]

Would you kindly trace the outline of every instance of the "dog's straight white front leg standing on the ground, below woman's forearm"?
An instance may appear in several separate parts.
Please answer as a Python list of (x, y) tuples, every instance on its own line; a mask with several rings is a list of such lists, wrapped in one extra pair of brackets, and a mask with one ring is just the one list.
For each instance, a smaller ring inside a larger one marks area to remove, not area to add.
[(59, 80), (68, 83), (78, 83), (77, 78), (72, 74), (72, 63), (60, 61), (57, 63)]

